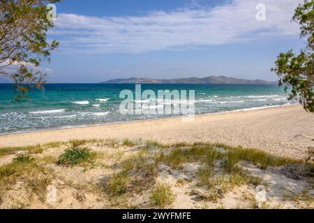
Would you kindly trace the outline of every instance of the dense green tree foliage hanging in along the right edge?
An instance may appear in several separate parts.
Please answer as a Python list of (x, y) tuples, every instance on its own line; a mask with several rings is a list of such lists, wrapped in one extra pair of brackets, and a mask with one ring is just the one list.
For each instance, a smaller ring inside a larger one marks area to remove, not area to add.
[(299, 100), (304, 109), (314, 112), (314, 0), (299, 5), (292, 18), (301, 26), (301, 38), (307, 38), (308, 45), (299, 55), (292, 50), (279, 54), (276, 72), (279, 85), (290, 91), (289, 100)]

